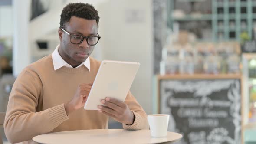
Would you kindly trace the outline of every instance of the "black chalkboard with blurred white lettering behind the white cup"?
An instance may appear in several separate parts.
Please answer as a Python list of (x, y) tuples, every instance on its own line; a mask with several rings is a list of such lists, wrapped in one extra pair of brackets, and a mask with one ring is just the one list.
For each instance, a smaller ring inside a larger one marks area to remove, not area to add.
[(175, 144), (240, 144), (240, 79), (161, 79), (159, 112), (170, 114)]

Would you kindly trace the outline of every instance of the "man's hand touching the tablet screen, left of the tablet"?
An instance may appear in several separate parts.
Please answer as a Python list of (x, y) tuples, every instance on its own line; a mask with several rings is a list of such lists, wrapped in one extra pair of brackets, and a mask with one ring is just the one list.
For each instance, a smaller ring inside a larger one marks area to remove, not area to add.
[(92, 83), (79, 85), (72, 100), (64, 104), (67, 115), (85, 105), (91, 88)]

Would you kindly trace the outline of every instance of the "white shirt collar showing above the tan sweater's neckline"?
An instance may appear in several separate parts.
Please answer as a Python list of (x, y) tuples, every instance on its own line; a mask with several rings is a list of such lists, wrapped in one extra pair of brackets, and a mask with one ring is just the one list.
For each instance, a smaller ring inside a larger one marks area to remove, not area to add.
[[(52, 53), (52, 57), (53, 57), (53, 67), (54, 67), (54, 70), (57, 70), (57, 69), (61, 68), (62, 66), (73, 68), (64, 59), (62, 59), (62, 57), (59, 55), (59, 45), (56, 46), (56, 49)], [(89, 57), (85, 60), (85, 62), (81, 63), (76, 68), (78, 68), (78, 67), (80, 67), (82, 65), (85, 65), (85, 67), (87, 67), (87, 69), (89, 69), (89, 71), (90, 71), (90, 59), (89, 59)]]

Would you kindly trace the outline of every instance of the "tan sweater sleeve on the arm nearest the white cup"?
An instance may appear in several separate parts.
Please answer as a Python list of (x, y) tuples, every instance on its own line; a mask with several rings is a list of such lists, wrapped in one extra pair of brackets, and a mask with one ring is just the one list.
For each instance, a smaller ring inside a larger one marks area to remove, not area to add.
[(123, 128), (127, 130), (149, 129), (147, 114), (130, 91), (126, 96), (125, 103), (135, 115), (135, 121), (132, 125), (123, 124)]

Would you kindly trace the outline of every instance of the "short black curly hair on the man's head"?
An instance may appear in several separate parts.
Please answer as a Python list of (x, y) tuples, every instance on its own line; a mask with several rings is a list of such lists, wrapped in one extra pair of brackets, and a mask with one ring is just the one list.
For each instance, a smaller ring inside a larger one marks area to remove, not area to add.
[(96, 20), (98, 25), (98, 11), (88, 3), (69, 3), (66, 7), (63, 8), (60, 15), (60, 27), (65, 28), (66, 23), (69, 22), (72, 16), (84, 18), (86, 20)]

